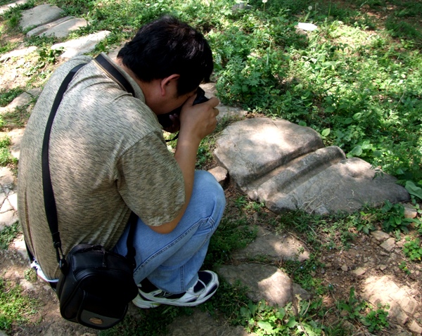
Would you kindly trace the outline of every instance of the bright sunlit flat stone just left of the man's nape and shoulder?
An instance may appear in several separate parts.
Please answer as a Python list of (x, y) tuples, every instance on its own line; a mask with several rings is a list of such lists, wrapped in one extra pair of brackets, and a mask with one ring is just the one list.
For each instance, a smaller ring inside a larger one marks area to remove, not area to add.
[(59, 57), (63, 60), (68, 60), (69, 58), (93, 51), (98, 42), (106, 39), (109, 34), (110, 32), (108, 32), (108, 30), (102, 30), (101, 32), (89, 34), (79, 39), (72, 39), (63, 43), (54, 44), (51, 46), (51, 49), (63, 48), (65, 52)]

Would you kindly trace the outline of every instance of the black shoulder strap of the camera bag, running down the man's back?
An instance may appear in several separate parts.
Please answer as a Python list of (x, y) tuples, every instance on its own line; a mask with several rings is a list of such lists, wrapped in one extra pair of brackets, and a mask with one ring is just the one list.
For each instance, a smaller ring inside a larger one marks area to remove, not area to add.
[[(50, 143), (50, 134), (51, 134), (51, 127), (53, 125), (53, 119), (56, 116), (56, 112), (63, 98), (63, 94), (65, 93), (66, 89), (68, 89), (68, 85), (70, 81), (72, 80), (72, 78), (75, 76), (77, 70), (79, 70), (84, 65), (85, 63), (79, 64), (76, 67), (74, 67), (72, 70), (70, 70), (68, 75), (66, 75), (65, 79), (63, 79), (63, 82), (60, 85), (60, 88), (58, 89), (56, 98), (54, 98), (54, 101), (53, 101), (53, 106), (51, 107), (49, 119), (47, 120), (46, 130), (44, 132), (44, 139), (42, 143), (42, 152), (41, 152), (42, 188), (43, 188), (43, 193), (44, 193), (44, 207), (46, 209), (46, 218), (47, 218), (47, 222), (49, 223), (51, 236), (53, 238), (53, 246), (56, 249), (56, 257), (57, 257), (58, 265), (60, 267), (60, 270), (63, 273), (67, 271), (68, 265), (66, 263), (65, 256), (61, 249), (60, 233), (58, 231), (56, 199), (54, 198), (53, 186), (51, 184), (50, 167), (49, 167), (49, 143)], [(130, 228), (129, 228), (129, 235), (127, 237), (126, 257), (131, 261), (131, 263), (134, 266), (135, 266), (134, 256), (136, 254), (136, 251), (133, 247), (133, 239), (134, 239), (136, 221), (137, 221), (136, 214), (132, 212), (132, 214), (129, 217)]]

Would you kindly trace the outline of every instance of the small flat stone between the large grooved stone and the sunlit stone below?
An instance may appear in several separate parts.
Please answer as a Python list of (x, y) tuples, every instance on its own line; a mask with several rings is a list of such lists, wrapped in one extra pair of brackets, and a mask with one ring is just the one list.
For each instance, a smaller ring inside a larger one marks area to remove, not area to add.
[(235, 260), (265, 257), (273, 261), (304, 261), (309, 259), (309, 252), (305, 245), (292, 235), (276, 235), (258, 226), (257, 238), (248, 247), (234, 252), (231, 257)]

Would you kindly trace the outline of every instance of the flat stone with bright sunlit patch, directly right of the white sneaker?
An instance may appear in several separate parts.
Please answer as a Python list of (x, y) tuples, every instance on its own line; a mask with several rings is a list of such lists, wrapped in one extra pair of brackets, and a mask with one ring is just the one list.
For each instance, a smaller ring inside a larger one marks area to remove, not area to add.
[(263, 264), (226, 265), (218, 270), (231, 285), (240, 280), (249, 288), (246, 294), (253, 302), (265, 299), (269, 304), (285, 306), (292, 302), (293, 295), (309, 299), (309, 294), (299, 285), (293, 284), (286, 273), (276, 266)]

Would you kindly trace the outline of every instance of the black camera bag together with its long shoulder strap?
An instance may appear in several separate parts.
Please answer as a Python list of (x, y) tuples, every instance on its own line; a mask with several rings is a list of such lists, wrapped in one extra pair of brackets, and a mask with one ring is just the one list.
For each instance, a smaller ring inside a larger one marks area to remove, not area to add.
[[(98, 56), (96, 60), (107, 62), (103, 56)], [(107, 329), (122, 321), (129, 302), (138, 294), (138, 287), (133, 278), (136, 253), (133, 236), (137, 217), (132, 212), (129, 218), (126, 257), (106, 251), (101, 245), (79, 244), (73, 247), (65, 258), (61, 249), (56, 200), (49, 169), (51, 125), (68, 84), (83, 65), (74, 67), (63, 80), (47, 120), (41, 153), (44, 207), (61, 271), (56, 287), (60, 314), (68, 321), (91, 328)]]

